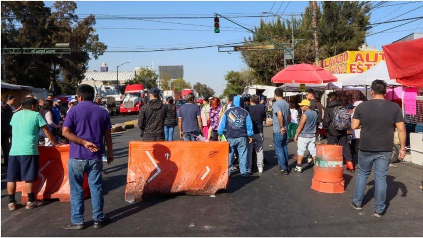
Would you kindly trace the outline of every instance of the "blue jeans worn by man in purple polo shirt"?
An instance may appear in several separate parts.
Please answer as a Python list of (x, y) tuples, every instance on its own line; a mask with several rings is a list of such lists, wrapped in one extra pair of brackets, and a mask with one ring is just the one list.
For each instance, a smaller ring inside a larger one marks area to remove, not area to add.
[(91, 192), (91, 205), (93, 208), (93, 220), (103, 221), (104, 199), (101, 193), (101, 171), (103, 162), (101, 159), (78, 160), (69, 158), (69, 185), (70, 185), (70, 208), (71, 222), (79, 225), (84, 223), (84, 173), (88, 175), (88, 185)]

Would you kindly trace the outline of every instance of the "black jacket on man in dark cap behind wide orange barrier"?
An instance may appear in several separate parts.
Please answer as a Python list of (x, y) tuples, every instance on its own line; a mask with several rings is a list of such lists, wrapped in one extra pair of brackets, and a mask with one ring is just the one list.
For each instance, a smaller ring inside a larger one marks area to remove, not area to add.
[(138, 127), (144, 130), (143, 137), (165, 137), (167, 107), (160, 100), (150, 100), (141, 107)]

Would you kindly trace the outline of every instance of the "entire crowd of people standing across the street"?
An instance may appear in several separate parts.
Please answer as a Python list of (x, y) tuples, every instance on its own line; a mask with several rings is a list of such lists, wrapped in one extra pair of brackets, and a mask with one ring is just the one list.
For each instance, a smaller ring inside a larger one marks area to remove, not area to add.
[[(335, 92), (329, 93), (327, 107), (314, 98), (314, 91), (306, 90), (306, 99), (298, 106), (289, 104), (283, 98), (283, 89), (274, 92), (272, 105), (273, 146), (278, 168), (274, 175), (288, 175), (288, 139), (297, 143), (297, 163), (293, 170), (302, 172), (303, 159), (308, 150), (309, 163), (315, 162), (316, 135), (319, 129), (326, 131), (328, 144), (340, 144), (348, 170), (354, 172), (353, 158), (357, 158), (359, 173), (351, 205), (361, 210), (367, 179), (375, 165), (375, 214), (385, 213), (386, 176), (392, 154), (394, 129), (397, 128), (401, 149), (399, 158), (405, 156), (405, 125), (398, 104), (384, 99), (386, 83), (375, 80), (372, 83), (373, 100), (354, 103), (353, 115), (349, 114), (337, 99)], [(142, 141), (173, 141), (174, 129), (179, 126), (180, 138), (185, 141), (227, 141), (229, 144), (228, 174), (233, 176), (238, 170), (242, 177), (252, 173), (252, 157), (257, 158), (259, 173), (264, 169), (263, 122), (266, 120), (266, 107), (258, 95), (229, 95), (227, 103), (221, 105), (217, 97), (195, 100), (189, 93), (186, 103), (179, 108), (173, 98), (163, 103), (160, 90), (150, 90), (150, 100), (139, 112), (138, 127)], [(39, 135), (45, 146), (58, 145), (58, 133), (70, 141), (69, 185), (71, 194), (71, 220), (63, 229), (80, 230), (84, 228), (83, 178), (88, 175), (91, 193), (94, 228), (101, 228), (110, 219), (103, 213), (104, 199), (102, 187), (102, 158), (106, 154), (107, 163), (114, 160), (111, 137), (111, 122), (107, 107), (101, 98), (94, 102), (94, 88), (82, 84), (76, 89), (76, 97), (69, 102), (69, 109), (63, 113), (59, 109), (60, 100), (49, 95), (46, 100), (36, 100), (28, 94), (21, 105), (14, 108), (15, 98), (6, 95), (1, 104), (1, 146), (4, 163), (7, 165), (8, 208), (16, 210), (16, 182), (25, 181), (28, 193), (26, 209), (44, 205), (36, 200), (33, 188), (39, 171)], [(196, 104), (197, 102), (197, 104)], [(347, 141), (347, 130), (354, 135), (352, 155)], [(11, 146), (10, 146), (11, 145)], [(235, 167), (235, 158), (239, 169)]]

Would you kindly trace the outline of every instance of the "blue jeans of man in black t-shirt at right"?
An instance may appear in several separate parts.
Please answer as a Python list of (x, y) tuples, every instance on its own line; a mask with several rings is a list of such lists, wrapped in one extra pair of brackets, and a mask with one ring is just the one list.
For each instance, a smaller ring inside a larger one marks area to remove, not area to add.
[(354, 192), (353, 202), (360, 205), (363, 201), (364, 191), (366, 190), (367, 179), (369, 178), (372, 166), (375, 164), (375, 211), (382, 213), (385, 211), (386, 198), (386, 175), (389, 169), (389, 161), (391, 160), (391, 151), (381, 152), (358, 152), (358, 164), (360, 165), (356, 189)]

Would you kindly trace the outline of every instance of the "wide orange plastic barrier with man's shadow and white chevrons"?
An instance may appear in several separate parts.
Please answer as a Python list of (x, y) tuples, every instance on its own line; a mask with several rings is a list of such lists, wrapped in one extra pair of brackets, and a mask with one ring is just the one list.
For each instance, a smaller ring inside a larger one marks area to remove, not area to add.
[(185, 193), (214, 195), (228, 183), (227, 142), (129, 142), (125, 200)]

